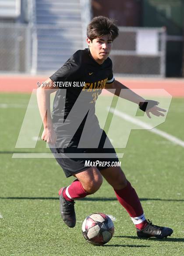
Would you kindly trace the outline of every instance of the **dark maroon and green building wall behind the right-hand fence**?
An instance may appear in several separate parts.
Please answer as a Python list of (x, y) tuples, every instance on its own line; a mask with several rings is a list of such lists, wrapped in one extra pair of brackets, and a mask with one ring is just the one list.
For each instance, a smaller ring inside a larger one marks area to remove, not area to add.
[(92, 0), (92, 13), (119, 26), (166, 27), (166, 77), (184, 76), (183, 0)]

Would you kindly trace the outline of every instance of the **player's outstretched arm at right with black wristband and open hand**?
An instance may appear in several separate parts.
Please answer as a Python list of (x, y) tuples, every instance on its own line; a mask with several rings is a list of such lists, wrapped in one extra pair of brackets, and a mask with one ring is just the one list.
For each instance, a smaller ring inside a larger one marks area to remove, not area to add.
[[(142, 98), (140, 95), (136, 94), (134, 91), (127, 88), (124, 84), (121, 84), (117, 80), (114, 80), (113, 83), (111, 84), (107, 83), (105, 85), (105, 89), (117, 95), (118, 97), (137, 103), (139, 108), (142, 111), (145, 111), (149, 118), (151, 118), (150, 113), (159, 117), (159, 116), (164, 116), (164, 113), (162, 112), (166, 112), (166, 110), (159, 108), (157, 106), (159, 102)], [(112, 90), (110, 89), (115, 89), (115, 92), (112, 92)], [(123, 93), (120, 94), (122, 89), (126, 89), (126, 90), (124, 90)]]

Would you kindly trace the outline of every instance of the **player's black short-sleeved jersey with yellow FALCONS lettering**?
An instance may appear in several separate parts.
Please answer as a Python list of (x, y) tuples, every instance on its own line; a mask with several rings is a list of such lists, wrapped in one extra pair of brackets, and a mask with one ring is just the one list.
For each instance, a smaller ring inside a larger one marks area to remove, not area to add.
[(70, 135), (70, 127), (77, 124), (78, 131), (82, 130), (87, 116), (89, 129), (99, 128), (95, 102), (105, 84), (114, 81), (111, 59), (100, 65), (92, 59), (88, 48), (79, 50), (50, 79), (60, 88), (52, 111), (56, 132)]

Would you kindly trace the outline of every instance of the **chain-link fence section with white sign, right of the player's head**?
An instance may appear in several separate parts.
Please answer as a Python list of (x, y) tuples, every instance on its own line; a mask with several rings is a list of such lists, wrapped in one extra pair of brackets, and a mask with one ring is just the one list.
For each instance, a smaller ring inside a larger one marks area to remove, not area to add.
[(119, 27), (110, 58), (117, 75), (165, 77), (165, 55), (164, 28)]

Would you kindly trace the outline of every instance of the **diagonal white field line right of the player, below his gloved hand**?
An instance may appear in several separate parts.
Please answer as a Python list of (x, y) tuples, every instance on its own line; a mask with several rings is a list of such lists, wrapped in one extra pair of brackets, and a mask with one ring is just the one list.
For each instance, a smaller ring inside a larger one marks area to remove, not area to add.
[[(108, 108), (108, 110), (109, 110), (109, 108)], [(142, 122), (142, 121), (140, 121), (140, 120), (138, 120), (138, 119), (136, 119), (136, 118), (134, 118), (134, 117), (131, 117), (131, 116), (129, 116), (129, 115), (127, 115), (127, 114), (125, 114), (125, 113), (119, 111), (119, 110), (115, 110), (115, 109), (111, 108), (109, 111), (110, 111), (111, 113), (114, 113), (116, 116), (118, 116), (118, 117), (120, 117), (120, 118), (126, 120), (126, 121), (129, 121), (129, 122), (131, 122), (131, 123), (133, 123), (133, 124), (137, 124), (137, 125), (139, 125), (140, 127), (147, 129), (149, 132), (156, 133), (156, 134), (160, 135), (161, 137), (163, 137), (163, 138), (165, 138), (165, 139), (168, 139), (168, 140), (171, 141), (172, 143), (184, 147), (184, 141), (183, 141), (183, 140), (177, 139), (175, 136), (170, 135), (170, 134), (167, 133), (167, 132), (163, 132), (163, 131), (161, 131), (161, 130), (159, 130), (159, 129), (157, 129), (157, 128), (152, 128), (151, 125), (146, 124), (145, 122)]]

